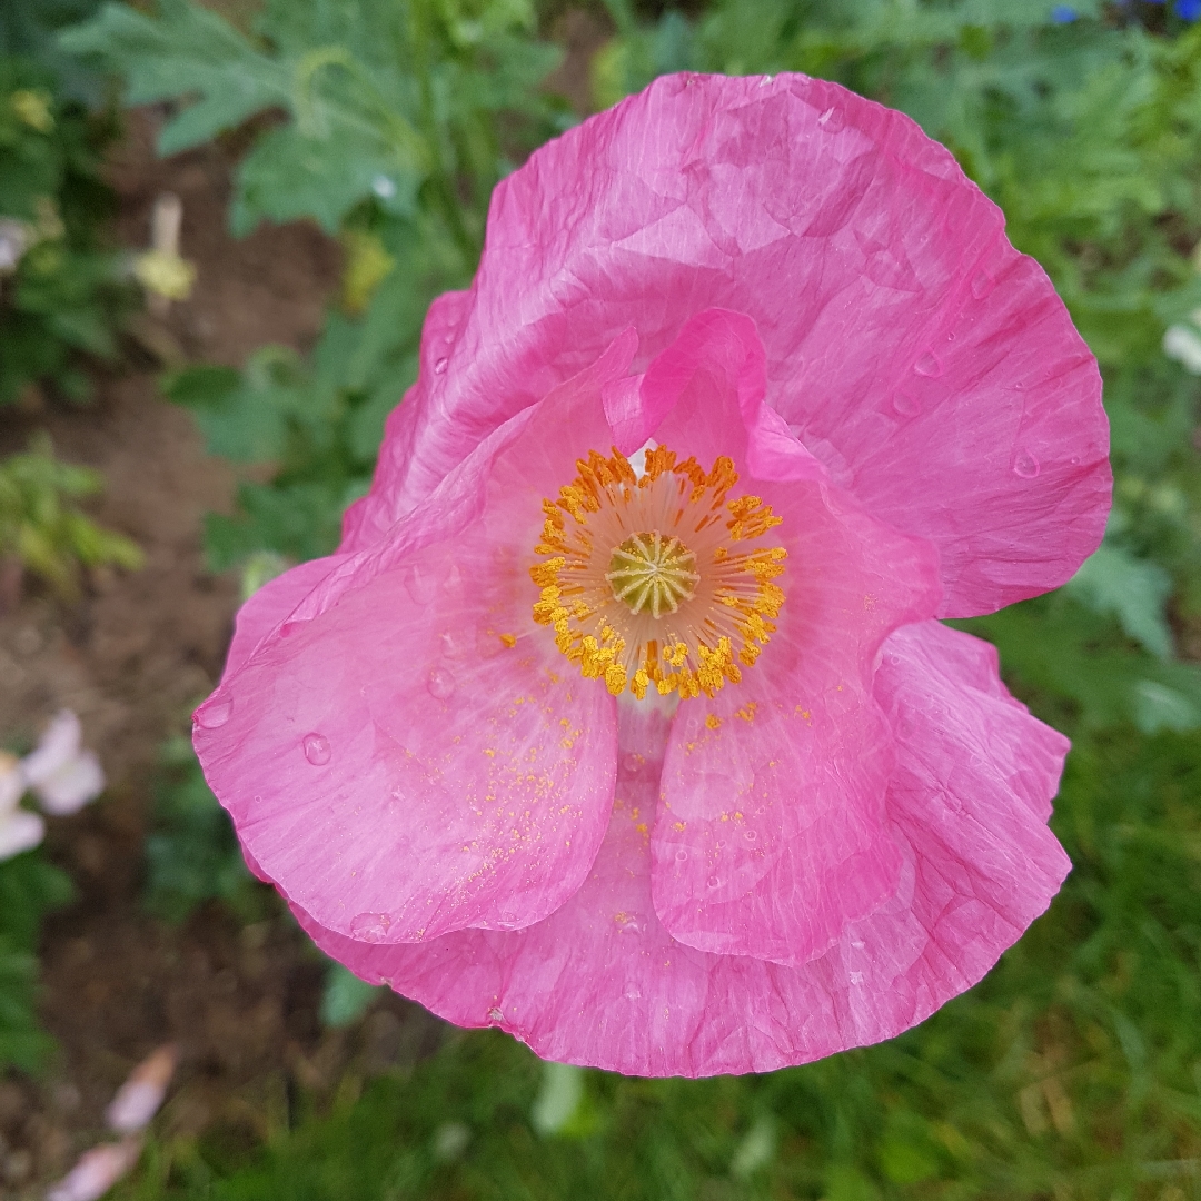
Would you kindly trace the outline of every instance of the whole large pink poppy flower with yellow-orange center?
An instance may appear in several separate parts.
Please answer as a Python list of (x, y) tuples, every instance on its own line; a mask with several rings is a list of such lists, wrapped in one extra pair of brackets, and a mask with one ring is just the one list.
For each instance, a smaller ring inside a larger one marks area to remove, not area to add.
[(659, 79), (500, 185), (201, 761), (318, 945), (453, 1022), (645, 1075), (889, 1038), (1069, 868), (1066, 740), (933, 619), (1066, 580), (1106, 450), (1046, 276), (912, 121)]

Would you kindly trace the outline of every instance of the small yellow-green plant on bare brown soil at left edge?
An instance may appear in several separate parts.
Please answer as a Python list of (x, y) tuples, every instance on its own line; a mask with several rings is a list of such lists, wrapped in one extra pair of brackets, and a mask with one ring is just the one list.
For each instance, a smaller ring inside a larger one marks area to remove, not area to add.
[(78, 591), (82, 567), (142, 567), (141, 548), (97, 526), (72, 501), (104, 486), (100, 472), (54, 458), (47, 435), (0, 460), (0, 562), (14, 560), (60, 596)]

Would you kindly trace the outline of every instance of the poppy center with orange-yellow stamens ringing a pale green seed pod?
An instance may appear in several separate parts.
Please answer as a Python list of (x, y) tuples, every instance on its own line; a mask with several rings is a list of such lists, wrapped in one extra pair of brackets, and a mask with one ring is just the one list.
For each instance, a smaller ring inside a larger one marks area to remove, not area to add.
[(734, 462), (706, 472), (667, 447), (639, 476), (615, 448), (578, 460), (579, 474), (543, 501), (542, 590), (534, 621), (587, 679), (614, 695), (712, 697), (742, 679), (784, 603), (775, 580), (787, 551), (761, 545), (781, 524), (758, 496), (727, 500)]

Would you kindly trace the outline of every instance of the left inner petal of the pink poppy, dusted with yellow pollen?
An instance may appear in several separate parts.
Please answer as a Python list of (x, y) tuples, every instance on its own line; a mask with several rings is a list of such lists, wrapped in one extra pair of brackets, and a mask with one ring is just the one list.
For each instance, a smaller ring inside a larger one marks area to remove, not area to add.
[(600, 390), (633, 349), (629, 331), (386, 538), (298, 569), (317, 581), (299, 602), (287, 576), (249, 602), (252, 649), (197, 711), (196, 747), (249, 858), (323, 926), (516, 928), (582, 882), (614, 701), (534, 625), (527, 568), (548, 482), (610, 437)]

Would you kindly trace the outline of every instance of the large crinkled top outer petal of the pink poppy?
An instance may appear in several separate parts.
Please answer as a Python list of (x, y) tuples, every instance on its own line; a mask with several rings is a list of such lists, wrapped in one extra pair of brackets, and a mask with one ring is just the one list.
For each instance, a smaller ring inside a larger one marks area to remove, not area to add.
[(641, 365), (710, 307), (754, 319), (769, 404), (836, 482), (937, 543), (944, 615), (1100, 540), (1100, 377), (1045, 274), (913, 121), (788, 73), (661, 78), (496, 189), (363, 513), (386, 528), (627, 325)]

